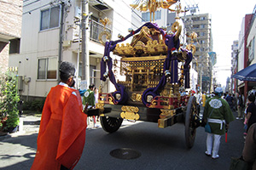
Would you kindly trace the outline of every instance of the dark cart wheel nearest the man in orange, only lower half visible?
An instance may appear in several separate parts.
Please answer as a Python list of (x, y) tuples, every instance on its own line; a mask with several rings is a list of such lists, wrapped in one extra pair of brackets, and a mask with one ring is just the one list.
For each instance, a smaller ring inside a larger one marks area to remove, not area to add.
[(114, 133), (119, 129), (123, 122), (122, 118), (101, 116), (102, 128), (108, 133)]

